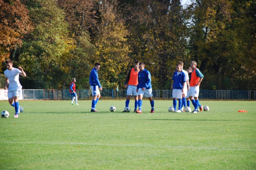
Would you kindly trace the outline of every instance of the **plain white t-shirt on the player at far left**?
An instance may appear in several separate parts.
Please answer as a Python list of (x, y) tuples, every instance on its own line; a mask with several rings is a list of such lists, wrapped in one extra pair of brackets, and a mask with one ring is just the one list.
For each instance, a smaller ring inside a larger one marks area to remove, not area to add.
[(20, 71), (17, 68), (12, 68), (11, 70), (5, 70), (4, 71), (4, 75), (5, 78), (8, 78), (9, 80), (9, 89), (11, 87), (20, 87), (20, 83), (19, 83), (19, 73), (21, 73), (22, 71)]

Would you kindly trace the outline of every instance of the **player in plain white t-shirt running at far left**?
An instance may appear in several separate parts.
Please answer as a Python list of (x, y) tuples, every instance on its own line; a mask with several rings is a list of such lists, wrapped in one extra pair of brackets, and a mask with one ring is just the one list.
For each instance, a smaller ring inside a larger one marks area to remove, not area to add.
[(22, 86), (19, 83), (19, 74), (23, 77), (27, 77), (22, 67), (13, 68), (13, 63), (11, 59), (5, 61), (5, 66), (7, 70), (4, 71), (5, 75), (5, 86), (4, 89), (8, 87), (8, 101), (15, 108), (15, 118), (19, 117), (19, 96), (22, 92)]

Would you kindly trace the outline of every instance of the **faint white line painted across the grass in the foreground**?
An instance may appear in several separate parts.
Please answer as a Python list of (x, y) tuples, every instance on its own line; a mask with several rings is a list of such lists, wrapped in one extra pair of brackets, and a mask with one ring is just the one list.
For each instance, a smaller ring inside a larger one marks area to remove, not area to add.
[(12, 142), (5, 141), (6, 143), (42, 143), (51, 145), (102, 145), (102, 146), (121, 146), (121, 147), (155, 147), (155, 148), (191, 148), (191, 149), (204, 149), (204, 150), (231, 150), (231, 151), (256, 151), (255, 149), (231, 149), (231, 148), (205, 148), (205, 147), (184, 147), (184, 146), (169, 146), (169, 145), (118, 145), (118, 144), (103, 144), (103, 143), (64, 143), (64, 142)]

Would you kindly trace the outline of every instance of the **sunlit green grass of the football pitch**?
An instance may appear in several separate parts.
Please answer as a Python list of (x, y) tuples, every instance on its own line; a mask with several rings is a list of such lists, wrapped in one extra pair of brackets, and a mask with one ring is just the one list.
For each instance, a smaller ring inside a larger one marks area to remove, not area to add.
[[(256, 102), (200, 101), (209, 112), (169, 113), (172, 101), (0, 101), (0, 169), (256, 169)], [(114, 105), (116, 112), (110, 112)], [(134, 101), (130, 105), (133, 110)], [(191, 105), (191, 108), (193, 106)], [(239, 113), (239, 110), (248, 113)]]

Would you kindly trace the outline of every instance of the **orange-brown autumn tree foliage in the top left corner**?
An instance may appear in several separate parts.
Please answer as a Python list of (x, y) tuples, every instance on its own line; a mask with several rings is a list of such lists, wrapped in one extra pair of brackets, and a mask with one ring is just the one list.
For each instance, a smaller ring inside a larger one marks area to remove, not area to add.
[(22, 45), (22, 38), (32, 30), (29, 10), (19, 0), (0, 0), (0, 62), (11, 50)]

